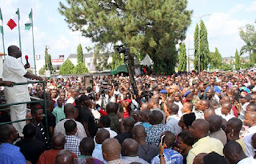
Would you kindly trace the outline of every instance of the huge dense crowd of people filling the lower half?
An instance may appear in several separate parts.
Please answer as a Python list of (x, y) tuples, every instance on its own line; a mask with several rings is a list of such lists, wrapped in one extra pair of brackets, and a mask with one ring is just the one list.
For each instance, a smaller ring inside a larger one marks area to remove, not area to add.
[[(4, 77), (4, 90), (14, 89)], [(30, 119), (0, 126), (0, 163), (256, 163), (254, 72), (134, 78), (138, 95), (123, 74), (94, 77), (91, 86), (82, 77), (23, 85), (46, 103), (28, 103)], [(22, 98), (4, 91), (1, 103), (10, 97)], [(17, 106), (2, 110), (0, 122), (18, 114)]]

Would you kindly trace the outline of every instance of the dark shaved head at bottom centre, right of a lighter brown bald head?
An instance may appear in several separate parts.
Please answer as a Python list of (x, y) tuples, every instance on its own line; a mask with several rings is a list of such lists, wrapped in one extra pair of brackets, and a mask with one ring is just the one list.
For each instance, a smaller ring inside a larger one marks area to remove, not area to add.
[(122, 142), (121, 154), (122, 156), (130, 157), (138, 156), (138, 143), (131, 138), (125, 139), (125, 141)]

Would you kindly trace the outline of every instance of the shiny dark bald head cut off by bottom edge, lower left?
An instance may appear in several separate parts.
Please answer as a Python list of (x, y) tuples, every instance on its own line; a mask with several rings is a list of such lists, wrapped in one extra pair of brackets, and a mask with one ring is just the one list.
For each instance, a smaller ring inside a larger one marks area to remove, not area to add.
[(74, 157), (69, 150), (58, 152), (54, 164), (74, 164)]

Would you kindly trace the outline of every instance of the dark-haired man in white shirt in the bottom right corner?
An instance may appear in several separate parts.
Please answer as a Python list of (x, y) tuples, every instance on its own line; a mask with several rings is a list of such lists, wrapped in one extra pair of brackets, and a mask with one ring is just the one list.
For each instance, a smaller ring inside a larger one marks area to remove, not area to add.
[(230, 163), (251, 164), (256, 163), (253, 157), (247, 157), (238, 142), (230, 141), (224, 146), (223, 153)]

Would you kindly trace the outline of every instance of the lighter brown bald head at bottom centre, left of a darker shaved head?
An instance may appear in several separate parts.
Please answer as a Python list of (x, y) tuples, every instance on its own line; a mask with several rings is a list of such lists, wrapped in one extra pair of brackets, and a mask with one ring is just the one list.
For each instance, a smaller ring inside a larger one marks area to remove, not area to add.
[(108, 138), (102, 143), (102, 154), (106, 161), (120, 158), (121, 145), (115, 138)]

